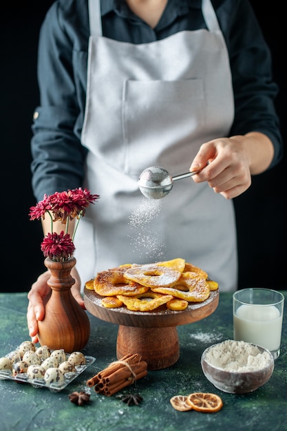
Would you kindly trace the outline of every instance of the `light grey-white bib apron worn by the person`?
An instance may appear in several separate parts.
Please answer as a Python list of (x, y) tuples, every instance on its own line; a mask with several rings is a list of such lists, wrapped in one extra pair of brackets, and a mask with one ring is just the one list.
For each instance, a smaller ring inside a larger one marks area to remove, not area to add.
[(188, 171), (200, 145), (227, 136), (233, 123), (228, 52), (209, 0), (202, 13), (208, 30), (135, 45), (103, 37), (100, 0), (89, 0), (82, 143), (89, 149), (85, 187), (100, 199), (76, 233), (82, 284), (119, 264), (183, 257), (221, 291), (236, 288), (233, 203), (206, 183), (176, 181), (149, 227), (131, 228), (135, 211), (152, 204), (138, 189), (141, 172), (156, 165), (172, 176)]

